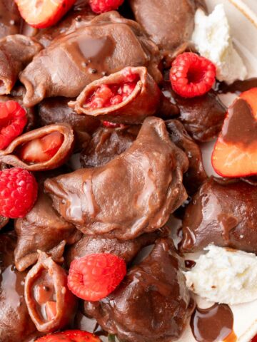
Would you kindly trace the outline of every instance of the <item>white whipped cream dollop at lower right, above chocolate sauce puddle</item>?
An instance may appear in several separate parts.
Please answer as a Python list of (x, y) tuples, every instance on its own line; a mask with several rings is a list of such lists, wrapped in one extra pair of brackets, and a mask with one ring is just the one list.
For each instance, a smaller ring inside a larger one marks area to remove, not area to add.
[(208, 301), (242, 304), (257, 299), (256, 254), (209, 245), (190, 271), (186, 286)]

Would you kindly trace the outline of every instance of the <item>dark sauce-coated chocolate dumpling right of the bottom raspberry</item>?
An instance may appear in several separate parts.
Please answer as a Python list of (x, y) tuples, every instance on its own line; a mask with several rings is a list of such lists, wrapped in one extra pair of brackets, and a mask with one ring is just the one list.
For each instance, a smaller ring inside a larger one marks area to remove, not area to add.
[(84, 302), (86, 315), (126, 342), (171, 342), (183, 333), (194, 303), (171, 239), (133, 266), (116, 290), (99, 302)]

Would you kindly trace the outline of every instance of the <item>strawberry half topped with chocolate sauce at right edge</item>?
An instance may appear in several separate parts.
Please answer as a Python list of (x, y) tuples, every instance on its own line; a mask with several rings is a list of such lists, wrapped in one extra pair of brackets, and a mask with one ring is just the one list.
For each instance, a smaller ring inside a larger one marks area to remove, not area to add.
[(257, 88), (241, 93), (228, 108), (211, 161), (222, 177), (257, 174)]

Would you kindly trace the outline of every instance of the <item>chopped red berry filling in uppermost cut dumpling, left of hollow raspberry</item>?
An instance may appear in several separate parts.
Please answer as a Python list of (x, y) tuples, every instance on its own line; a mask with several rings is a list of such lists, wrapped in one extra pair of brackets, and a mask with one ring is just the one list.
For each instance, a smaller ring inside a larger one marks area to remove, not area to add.
[(126, 73), (126, 82), (102, 84), (86, 99), (84, 108), (106, 108), (124, 102), (136, 88), (139, 77), (134, 73)]

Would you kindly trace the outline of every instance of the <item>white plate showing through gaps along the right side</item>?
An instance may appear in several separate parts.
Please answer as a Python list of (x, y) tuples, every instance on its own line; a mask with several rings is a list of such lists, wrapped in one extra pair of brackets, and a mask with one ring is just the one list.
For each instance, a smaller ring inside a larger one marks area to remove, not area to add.
[[(248, 78), (257, 77), (257, 0), (206, 0), (211, 12), (217, 4), (224, 4), (228, 21), (231, 26), (233, 43), (248, 68)], [(226, 105), (231, 104), (234, 95), (222, 95), (221, 100)], [(214, 142), (202, 145), (203, 164), (208, 175), (216, 175), (211, 166), (211, 152)], [(257, 224), (257, 222), (256, 222)], [(188, 257), (193, 259), (193, 257)], [(200, 307), (212, 305), (196, 296)], [(231, 306), (234, 316), (234, 332), (238, 342), (250, 342), (257, 334), (257, 301), (249, 304)], [(178, 342), (194, 342), (191, 328), (188, 324), (185, 333)]]

